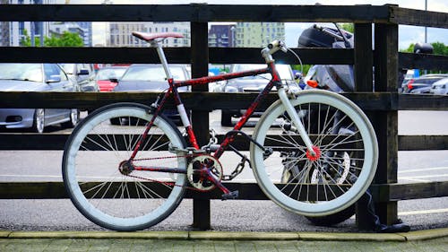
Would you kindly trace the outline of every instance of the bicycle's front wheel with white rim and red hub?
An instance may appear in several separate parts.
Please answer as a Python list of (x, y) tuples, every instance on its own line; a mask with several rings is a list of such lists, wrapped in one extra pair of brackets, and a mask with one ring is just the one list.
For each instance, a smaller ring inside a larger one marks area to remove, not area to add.
[(375, 176), (378, 146), (366, 115), (353, 102), (329, 91), (301, 91), (290, 100), (314, 152), (307, 151), (280, 101), (254, 129), (254, 177), (266, 196), (306, 216), (339, 213), (354, 204)]

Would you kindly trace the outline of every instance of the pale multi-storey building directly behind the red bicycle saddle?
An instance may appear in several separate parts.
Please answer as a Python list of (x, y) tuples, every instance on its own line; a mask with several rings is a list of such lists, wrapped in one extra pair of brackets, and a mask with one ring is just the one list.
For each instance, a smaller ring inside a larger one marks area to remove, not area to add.
[(142, 39), (134, 38), (133, 31), (182, 33), (184, 38), (164, 39), (162, 46), (169, 48), (190, 47), (189, 22), (110, 22), (108, 47), (146, 47), (148, 43)]

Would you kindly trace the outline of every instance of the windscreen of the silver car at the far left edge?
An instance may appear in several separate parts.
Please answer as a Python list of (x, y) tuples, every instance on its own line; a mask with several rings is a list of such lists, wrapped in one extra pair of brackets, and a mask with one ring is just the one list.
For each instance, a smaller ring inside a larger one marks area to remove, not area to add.
[(42, 65), (0, 63), (0, 80), (43, 82)]

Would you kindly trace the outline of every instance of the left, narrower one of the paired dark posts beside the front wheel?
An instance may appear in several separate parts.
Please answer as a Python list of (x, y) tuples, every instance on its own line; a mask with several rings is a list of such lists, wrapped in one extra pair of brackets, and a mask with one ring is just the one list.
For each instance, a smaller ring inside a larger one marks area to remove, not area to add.
[[(373, 91), (372, 23), (355, 23), (355, 91)], [(366, 113), (372, 121), (372, 113)], [(373, 230), (372, 215), (367, 212), (366, 197), (357, 204), (357, 225), (359, 230)]]

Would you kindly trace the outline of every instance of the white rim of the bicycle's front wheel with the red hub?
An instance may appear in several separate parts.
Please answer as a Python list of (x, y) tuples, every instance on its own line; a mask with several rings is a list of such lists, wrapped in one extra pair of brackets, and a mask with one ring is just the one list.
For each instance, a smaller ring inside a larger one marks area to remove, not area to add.
[[(344, 102), (345, 101), (345, 102)], [(323, 216), (331, 213), (337, 213), (353, 204), (369, 187), (372, 179), (375, 176), (375, 169), (377, 164), (377, 143), (375, 133), (368, 123), (366, 116), (358, 107), (352, 107), (351, 101), (339, 97), (328, 91), (303, 91), (298, 94), (297, 100), (291, 100), (293, 106), (299, 103), (322, 103), (337, 107), (355, 121), (359, 132), (364, 140), (364, 148), (366, 150), (364, 163), (361, 173), (358, 176), (357, 182), (342, 196), (339, 196), (328, 202), (306, 203), (300, 202), (289, 196), (284, 195), (278, 187), (276, 187), (264, 167), (263, 152), (259, 150), (256, 145), (251, 143), (251, 160), (254, 162), (254, 176), (263, 189), (263, 192), (271, 198), (274, 202), (283, 208), (308, 216)], [(282, 114), (284, 111), (280, 101), (271, 105), (269, 109), (263, 114), (260, 122), (254, 129), (254, 138), (257, 143), (264, 143), (266, 132), (268, 132), (271, 123)], [(368, 125), (365, 124), (368, 123)], [(257, 150), (258, 149), (258, 150)]]

